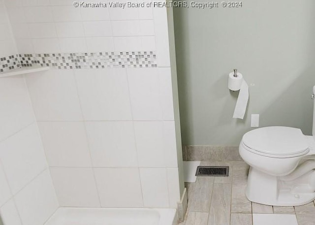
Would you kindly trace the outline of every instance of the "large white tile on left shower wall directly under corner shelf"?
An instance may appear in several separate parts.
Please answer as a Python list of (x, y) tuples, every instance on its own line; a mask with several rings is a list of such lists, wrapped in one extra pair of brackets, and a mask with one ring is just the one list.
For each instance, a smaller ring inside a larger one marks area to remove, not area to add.
[(0, 105), (0, 140), (35, 121), (23, 76), (1, 78)]

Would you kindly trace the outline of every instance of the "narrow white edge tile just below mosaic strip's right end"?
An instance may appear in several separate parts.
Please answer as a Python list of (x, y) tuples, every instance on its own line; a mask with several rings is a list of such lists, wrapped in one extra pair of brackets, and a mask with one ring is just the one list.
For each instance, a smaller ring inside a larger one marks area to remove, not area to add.
[(163, 120), (174, 120), (171, 69), (169, 67), (158, 68), (158, 77), (160, 80)]

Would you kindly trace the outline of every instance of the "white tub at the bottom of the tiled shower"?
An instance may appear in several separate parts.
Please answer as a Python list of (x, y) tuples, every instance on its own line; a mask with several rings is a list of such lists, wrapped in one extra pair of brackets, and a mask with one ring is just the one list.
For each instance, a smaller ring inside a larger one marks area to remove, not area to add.
[(177, 225), (176, 209), (59, 208), (45, 225)]

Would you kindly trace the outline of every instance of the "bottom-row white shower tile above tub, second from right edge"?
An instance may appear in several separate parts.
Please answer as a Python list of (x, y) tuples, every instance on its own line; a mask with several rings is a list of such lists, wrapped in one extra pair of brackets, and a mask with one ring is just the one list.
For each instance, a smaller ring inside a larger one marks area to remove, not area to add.
[(140, 168), (144, 207), (168, 208), (168, 190), (165, 168)]

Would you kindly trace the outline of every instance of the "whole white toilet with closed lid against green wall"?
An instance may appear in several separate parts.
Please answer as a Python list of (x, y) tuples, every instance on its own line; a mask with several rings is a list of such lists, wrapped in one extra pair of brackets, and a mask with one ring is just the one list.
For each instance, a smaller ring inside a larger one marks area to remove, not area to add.
[(297, 206), (315, 199), (315, 110), (313, 115), (313, 136), (289, 127), (265, 127), (244, 134), (239, 153), (251, 166), (246, 188), (250, 201)]

